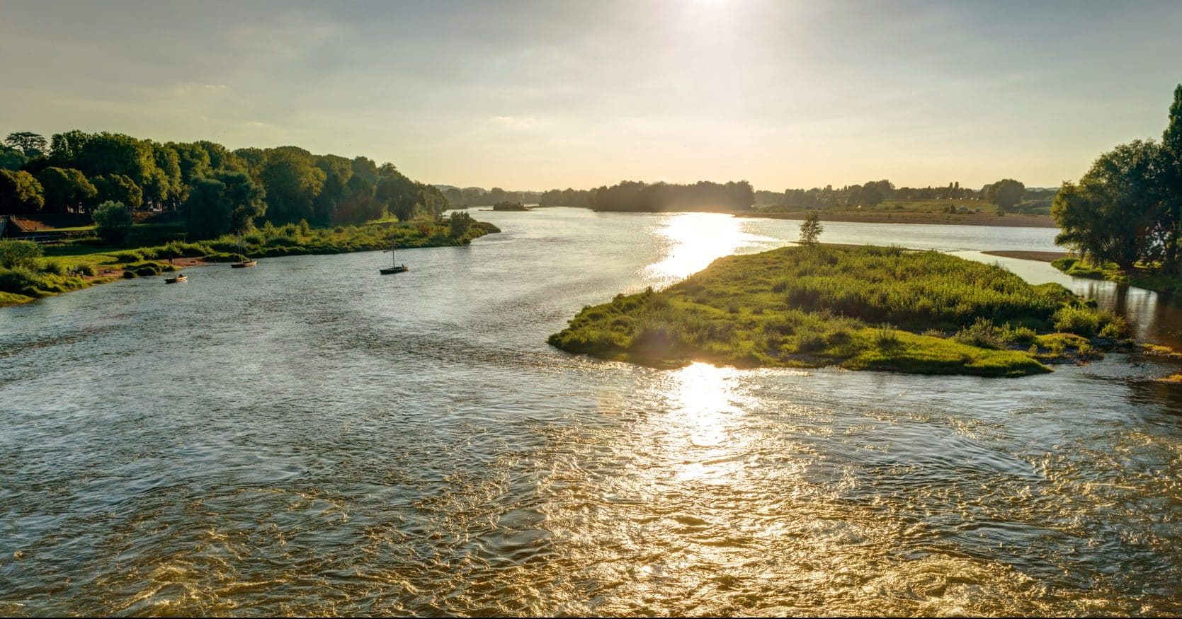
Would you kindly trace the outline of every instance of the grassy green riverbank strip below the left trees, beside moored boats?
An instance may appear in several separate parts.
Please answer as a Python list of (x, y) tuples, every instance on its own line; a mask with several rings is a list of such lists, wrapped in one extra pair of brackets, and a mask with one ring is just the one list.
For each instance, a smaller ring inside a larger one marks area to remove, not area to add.
[[(306, 223), (271, 224), (242, 235), (241, 249), (251, 258), (301, 254), (344, 254), (398, 248), (462, 246), (489, 233), (500, 232), (492, 223), (473, 222), (462, 235), (453, 235), (448, 220), (408, 222), (377, 221), (362, 226), (312, 228)], [(82, 289), (119, 278), (150, 276), (177, 267), (207, 262), (234, 262), (239, 237), (226, 235), (199, 242), (171, 241), (147, 247), (96, 245), (95, 237), (72, 239), (47, 246), (35, 262), (18, 268), (0, 268), (0, 307), (28, 302), (43, 297)], [(175, 263), (170, 263), (175, 262)], [(34, 266), (35, 265), (35, 266)]]

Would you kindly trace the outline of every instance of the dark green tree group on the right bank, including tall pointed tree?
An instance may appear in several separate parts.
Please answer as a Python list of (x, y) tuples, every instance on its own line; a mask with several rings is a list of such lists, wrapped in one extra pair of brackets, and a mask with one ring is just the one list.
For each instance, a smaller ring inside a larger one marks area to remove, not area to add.
[(1051, 209), (1056, 243), (1096, 266), (1182, 273), (1182, 84), (1162, 141), (1137, 139), (1100, 155)]

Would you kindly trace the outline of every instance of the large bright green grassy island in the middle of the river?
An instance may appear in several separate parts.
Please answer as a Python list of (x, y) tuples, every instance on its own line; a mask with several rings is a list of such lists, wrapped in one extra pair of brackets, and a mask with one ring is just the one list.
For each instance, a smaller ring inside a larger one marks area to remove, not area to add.
[(1058, 284), (939, 252), (786, 247), (722, 258), (664, 291), (585, 307), (550, 337), (567, 352), (676, 367), (1027, 376), (1099, 357), (1119, 317)]

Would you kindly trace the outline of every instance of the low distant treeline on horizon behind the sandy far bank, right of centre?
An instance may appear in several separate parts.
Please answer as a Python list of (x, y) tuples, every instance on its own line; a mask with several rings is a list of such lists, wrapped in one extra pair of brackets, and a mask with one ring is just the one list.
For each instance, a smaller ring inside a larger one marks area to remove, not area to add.
[(825, 185), (785, 189), (782, 193), (760, 190), (755, 193), (755, 203), (792, 209), (836, 209), (876, 207), (888, 200), (981, 200), (998, 204), (1004, 211), (1030, 211), (1050, 207), (1056, 191), (1057, 189), (1027, 189), (1013, 178), (1004, 178), (981, 189), (961, 187), (959, 182), (948, 183), (947, 187), (895, 187), (895, 183), (883, 180), (840, 188)]

